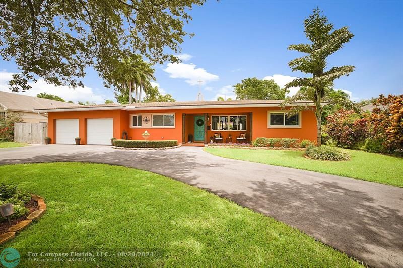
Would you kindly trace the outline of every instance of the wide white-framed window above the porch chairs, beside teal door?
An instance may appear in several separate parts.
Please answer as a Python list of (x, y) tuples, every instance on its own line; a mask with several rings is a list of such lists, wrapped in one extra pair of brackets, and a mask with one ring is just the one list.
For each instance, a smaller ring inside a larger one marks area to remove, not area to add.
[(211, 117), (212, 130), (246, 130), (246, 115), (217, 115)]

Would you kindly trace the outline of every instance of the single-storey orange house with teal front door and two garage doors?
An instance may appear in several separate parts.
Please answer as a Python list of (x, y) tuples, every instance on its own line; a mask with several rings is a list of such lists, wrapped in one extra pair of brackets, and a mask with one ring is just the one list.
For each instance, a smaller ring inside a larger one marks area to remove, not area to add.
[[(155, 102), (128, 105), (101, 104), (66, 108), (36, 109), (48, 113), (48, 136), (52, 143), (110, 144), (110, 139), (178, 140), (206, 144), (220, 133), (226, 142), (251, 142), (257, 137), (316, 140), (313, 111), (286, 117), (281, 100), (234, 100)], [(308, 102), (297, 102), (309, 104)], [(295, 104), (297, 104), (295, 103)], [(294, 104), (294, 105), (295, 105)], [(288, 107), (287, 109), (289, 109)], [(242, 135), (241, 135), (242, 134)], [(229, 138), (231, 136), (231, 139)], [(245, 136), (244, 140), (237, 138)]]

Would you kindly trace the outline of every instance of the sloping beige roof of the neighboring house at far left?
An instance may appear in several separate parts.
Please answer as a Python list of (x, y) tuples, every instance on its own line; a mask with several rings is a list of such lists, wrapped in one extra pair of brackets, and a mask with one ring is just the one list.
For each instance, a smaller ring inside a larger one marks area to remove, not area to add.
[(78, 107), (77, 104), (73, 103), (54, 101), (4, 91), (0, 91), (0, 106), (6, 110), (18, 112), (34, 112), (36, 109), (44, 108)]

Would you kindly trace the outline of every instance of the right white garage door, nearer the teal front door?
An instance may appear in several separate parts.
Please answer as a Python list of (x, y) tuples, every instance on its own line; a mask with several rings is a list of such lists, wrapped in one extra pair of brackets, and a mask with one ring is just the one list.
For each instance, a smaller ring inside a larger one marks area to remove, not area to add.
[(110, 145), (113, 118), (87, 119), (87, 144)]

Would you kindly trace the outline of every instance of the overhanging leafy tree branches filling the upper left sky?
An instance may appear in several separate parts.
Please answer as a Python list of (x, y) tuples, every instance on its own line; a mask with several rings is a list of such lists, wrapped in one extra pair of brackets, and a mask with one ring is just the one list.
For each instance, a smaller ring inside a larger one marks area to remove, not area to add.
[[(20, 73), (9, 82), (26, 91), (41, 77), (55, 85), (83, 86), (85, 68), (101, 77), (129, 54), (152, 62), (178, 61), (188, 11), (205, 0), (1, 1), (0, 55)], [(106, 81), (107, 83), (109, 81)]]

